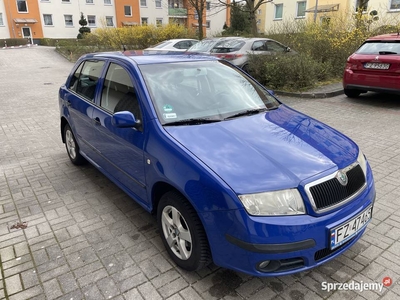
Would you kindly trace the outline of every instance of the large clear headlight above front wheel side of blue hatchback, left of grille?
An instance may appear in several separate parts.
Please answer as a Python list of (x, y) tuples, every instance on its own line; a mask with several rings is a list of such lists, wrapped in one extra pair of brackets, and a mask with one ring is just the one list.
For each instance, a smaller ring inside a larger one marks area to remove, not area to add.
[(239, 199), (253, 216), (300, 215), (306, 212), (297, 189), (240, 195)]

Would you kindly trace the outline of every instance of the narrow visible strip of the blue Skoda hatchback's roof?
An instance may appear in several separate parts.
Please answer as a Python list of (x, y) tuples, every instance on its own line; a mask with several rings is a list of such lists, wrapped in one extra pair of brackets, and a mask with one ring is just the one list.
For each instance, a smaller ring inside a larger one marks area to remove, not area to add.
[(215, 61), (218, 58), (214, 56), (203, 56), (203, 55), (190, 55), (190, 54), (152, 54), (145, 55), (141, 50), (132, 51), (115, 51), (115, 52), (97, 52), (89, 53), (82, 56), (83, 59), (96, 59), (96, 58), (114, 58), (117, 60), (131, 60), (137, 65), (147, 64), (162, 64), (162, 63), (173, 63), (173, 62), (194, 62), (194, 61)]

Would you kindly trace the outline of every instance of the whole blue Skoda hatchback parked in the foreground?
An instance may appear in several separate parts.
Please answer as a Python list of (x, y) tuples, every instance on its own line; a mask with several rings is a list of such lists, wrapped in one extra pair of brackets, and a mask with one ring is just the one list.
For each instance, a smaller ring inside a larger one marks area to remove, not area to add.
[(371, 220), (371, 168), (229, 62), (95, 53), (59, 90), (62, 140), (157, 215), (172, 260), (255, 276), (323, 264)]

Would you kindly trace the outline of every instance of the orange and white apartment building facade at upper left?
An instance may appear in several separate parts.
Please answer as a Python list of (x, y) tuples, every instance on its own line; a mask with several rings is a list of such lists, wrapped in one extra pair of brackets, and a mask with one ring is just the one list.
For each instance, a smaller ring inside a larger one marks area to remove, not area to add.
[[(187, 9), (187, 15), (178, 16), (179, 19), (169, 15), (168, 0), (26, 0), (28, 12), (22, 14), (17, 10), (16, 0), (4, 0), (0, 1), (0, 13), (4, 22), (4, 25), (0, 25), (0, 38), (22, 37), (22, 27), (30, 28), (33, 39), (76, 38), (81, 27), (81, 13), (92, 32), (105, 26), (141, 25), (144, 18), (147, 18), (147, 24), (165, 25), (178, 20), (183, 26), (196, 29), (198, 20), (193, 7), (187, 0), (176, 1), (182, 2), (182, 6)], [(210, 1), (218, 3), (218, 0)], [(124, 6), (132, 8), (130, 16), (126, 15)], [(204, 10), (204, 35), (216, 35), (222, 31), (227, 20), (227, 11), (226, 7), (221, 6), (218, 9), (211, 6), (209, 11)], [(66, 23), (65, 16), (72, 16), (72, 24)], [(89, 22), (91, 16), (95, 17), (94, 24)], [(109, 20), (112, 18), (112, 25), (106, 24), (107, 17)], [(30, 18), (31, 23), (15, 23), (15, 19), (25, 18)], [(209, 28), (206, 28), (207, 20), (210, 21)]]

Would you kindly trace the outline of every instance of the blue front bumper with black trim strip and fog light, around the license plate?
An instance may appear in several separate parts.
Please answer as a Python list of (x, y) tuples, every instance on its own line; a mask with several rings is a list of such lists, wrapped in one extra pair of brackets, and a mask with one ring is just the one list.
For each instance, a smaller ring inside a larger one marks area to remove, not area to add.
[(253, 276), (281, 276), (333, 259), (365, 231), (364, 228), (343, 245), (330, 249), (330, 230), (374, 203), (372, 175), (367, 182), (356, 199), (322, 216), (253, 217), (244, 209), (204, 213), (214, 263)]

